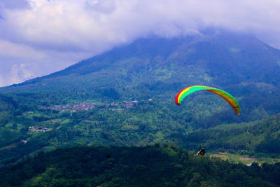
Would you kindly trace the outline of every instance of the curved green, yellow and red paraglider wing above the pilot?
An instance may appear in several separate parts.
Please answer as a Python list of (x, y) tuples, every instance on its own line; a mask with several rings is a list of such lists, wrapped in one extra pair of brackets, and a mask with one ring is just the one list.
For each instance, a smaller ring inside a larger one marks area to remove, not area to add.
[(217, 88), (205, 86), (205, 85), (193, 85), (193, 86), (190, 86), (188, 88), (181, 90), (181, 92), (179, 92), (176, 96), (176, 99), (175, 99), (176, 104), (178, 104), (178, 105), (181, 104), (182, 100), (187, 95), (190, 95), (191, 93), (196, 92), (198, 90), (212, 92), (216, 95), (223, 97), (223, 99), (225, 99), (230, 104), (230, 106), (232, 106), (232, 108), (235, 110), (235, 113), (237, 113), (237, 115), (240, 114), (239, 104), (238, 104), (237, 100), (235, 99), (235, 97), (232, 97), (232, 95), (230, 95), (228, 92), (219, 90)]

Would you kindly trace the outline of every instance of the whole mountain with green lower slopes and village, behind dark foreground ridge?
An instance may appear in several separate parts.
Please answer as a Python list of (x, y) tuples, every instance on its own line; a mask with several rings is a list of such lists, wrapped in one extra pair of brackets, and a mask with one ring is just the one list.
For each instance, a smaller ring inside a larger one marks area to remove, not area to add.
[[(0, 166), (61, 146), (159, 142), (274, 157), (279, 153), (269, 144), (279, 144), (279, 74), (280, 50), (247, 34), (139, 39), (0, 88)], [(176, 93), (189, 85), (230, 92), (241, 115), (205, 92), (176, 106)]]

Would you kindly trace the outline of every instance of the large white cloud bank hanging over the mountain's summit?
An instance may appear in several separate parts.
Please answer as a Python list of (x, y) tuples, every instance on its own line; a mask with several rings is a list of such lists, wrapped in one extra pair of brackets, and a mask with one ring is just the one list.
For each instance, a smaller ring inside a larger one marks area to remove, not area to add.
[(30, 0), (29, 6), (28, 11), (6, 10), (1, 34), (43, 49), (94, 53), (148, 34), (176, 36), (199, 32), (200, 27), (260, 37), (280, 29), (277, 1)]

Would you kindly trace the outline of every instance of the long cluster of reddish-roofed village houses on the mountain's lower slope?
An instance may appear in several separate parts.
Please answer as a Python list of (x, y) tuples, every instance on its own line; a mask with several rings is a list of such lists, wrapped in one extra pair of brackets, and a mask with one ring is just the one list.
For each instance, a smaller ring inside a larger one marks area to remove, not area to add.
[[(81, 102), (76, 104), (66, 104), (66, 105), (55, 105), (55, 106), (43, 106), (45, 109), (52, 109), (57, 110), (60, 112), (69, 111), (69, 112), (76, 112), (76, 111), (87, 111), (90, 109), (93, 109), (94, 106), (120, 106), (125, 109), (131, 108), (134, 104), (138, 104), (138, 101), (132, 101), (132, 102), (123, 102), (123, 104), (118, 104), (116, 102), (112, 102), (111, 104), (108, 103), (93, 103), (93, 102)], [(123, 111), (123, 109), (109, 109), (111, 111)]]

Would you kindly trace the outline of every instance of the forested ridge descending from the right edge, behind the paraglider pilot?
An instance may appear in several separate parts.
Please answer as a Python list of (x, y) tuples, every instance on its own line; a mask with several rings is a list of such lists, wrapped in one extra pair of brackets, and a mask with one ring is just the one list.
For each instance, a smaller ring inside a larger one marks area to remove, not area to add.
[(253, 123), (218, 125), (188, 134), (174, 133), (170, 134), (170, 139), (176, 139), (176, 144), (187, 148), (202, 144), (209, 148), (209, 151), (228, 151), (255, 157), (269, 153), (270, 157), (279, 158), (279, 134), (280, 114)]

